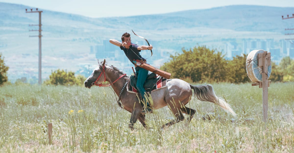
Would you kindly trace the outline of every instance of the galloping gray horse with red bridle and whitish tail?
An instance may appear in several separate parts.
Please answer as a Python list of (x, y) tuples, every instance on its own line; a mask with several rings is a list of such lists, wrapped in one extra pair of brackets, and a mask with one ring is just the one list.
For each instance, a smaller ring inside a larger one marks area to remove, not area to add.
[[(128, 80), (128, 76), (116, 67), (108, 66), (105, 64), (104, 60), (102, 64), (99, 63), (99, 66), (94, 69), (84, 84), (85, 87), (91, 88), (93, 85), (105, 86), (102, 82), (108, 81), (110, 84), (107, 86), (111, 85), (114, 92), (118, 96), (121, 95), (120, 99), (123, 108), (132, 113), (129, 128), (133, 129), (133, 125), (137, 120), (139, 120), (146, 128), (145, 115), (141, 114), (142, 106), (138, 101), (137, 94), (129, 93), (124, 88)], [(184, 120), (185, 118), (183, 113), (188, 114), (189, 117), (187, 121), (191, 121), (196, 110), (188, 108), (185, 105), (191, 100), (192, 89), (194, 90), (194, 96), (196, 96), (199, 100), (215, 103), (232, 115), (236, 115), (228, 103), (226, 103), (222, 98), (216, 96), (213, 91), (213, 87), (209, 84), (193, 86), (181, 79), (168, 79), (166, 84), (167, 87), (151, 92), (153, 109), (169, 106), (172, 113), (176, 116), (175, 120), (166, 123), (162, 126), (162, 128), (169, 127)]]

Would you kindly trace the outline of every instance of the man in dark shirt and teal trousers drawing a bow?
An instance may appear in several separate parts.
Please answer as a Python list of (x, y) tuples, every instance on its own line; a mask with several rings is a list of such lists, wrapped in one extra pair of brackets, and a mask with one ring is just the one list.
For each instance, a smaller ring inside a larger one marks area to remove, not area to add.
[[(136, 34), (135, 34), (136, 35)], [(141, 50), (151, 50), (152, 53), (152, 45), (145, 46), (145, 45), (136, 45), (131, 43), (131, 35), (129, 33), (124, 33), (121, 36), (122, 43), (118, 40), (110, 39), (109, 42), (112, 43), (113, 45), (116, 45), (123, 50), (123, 52), (126, 54), (128, 59), (133, 63), (133, 61), (140, 60), (141, 62), (146, 63), (146, 59), (143, 58), (140, 55)], [(146, 40), (146, 39), (145, 39)], [(147, 41), (147, 40), (146, 40)], [(151, 55), (152, 56), (152, 55)], [(148, 70), (138, 67), (135, 63), (136, 73), (138, 74), (138, 80), (137, 80), (137, 89), (142, 97), (142, 101), (146, 103), (146, 108), (143, 109), (141, 112), (142, 114), (145, 113), (153, 113), (151, 106), (148, 102), (148, 98), (146, 98), (147, 94), (146, 91), (143, 87), (144, 82), (146, 81), (147, 75), (148, 75)]]

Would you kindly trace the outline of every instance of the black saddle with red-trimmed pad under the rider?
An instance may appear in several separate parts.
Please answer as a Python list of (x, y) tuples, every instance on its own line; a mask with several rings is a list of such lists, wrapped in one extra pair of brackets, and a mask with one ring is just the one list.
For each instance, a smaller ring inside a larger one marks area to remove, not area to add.
[[(135, 73), (135, 75), (130, 76), (130, 81), (127, 85), (127, 91), (131, 93), (138, 93), (137, 89), (137, 79), (138, 79), (138, 74)], [(166, 78), (163, 78), (161, 76), (156, 77), (155, 73), (150, 73), (148, 74), (146, 81), (143, 85), (144, 89), (146, 92), (151, 92), (156, 89), (160, 89), (162, 87), (166, 87)]]

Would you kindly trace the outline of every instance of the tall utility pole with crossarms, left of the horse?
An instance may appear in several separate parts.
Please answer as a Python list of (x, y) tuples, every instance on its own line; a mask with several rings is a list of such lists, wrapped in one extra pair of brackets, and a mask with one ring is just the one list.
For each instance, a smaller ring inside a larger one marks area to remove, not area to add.
[(31, 11), (28, 11), (28, 9), (26, 9), (26, 13), (39, 13), (39, 25), (29, 25), (29, 26), (39, 26), (39, 30), (29, 30), (29, 31), (39, 31), (39, 35), (34, 35), (34, 36), (29, 36), (29, 37), (39, 37), (39, 79), (38, 82), (41, 85), (42, 84), (42, 43), (41, 43), (41, 31), (42, 31), (42, 24), (41, 24), (41, 13), (43, 11), (38, 11), (38, 8), (36, 8), (36, 11), (33, 11), (33, 9), (31, 9)]

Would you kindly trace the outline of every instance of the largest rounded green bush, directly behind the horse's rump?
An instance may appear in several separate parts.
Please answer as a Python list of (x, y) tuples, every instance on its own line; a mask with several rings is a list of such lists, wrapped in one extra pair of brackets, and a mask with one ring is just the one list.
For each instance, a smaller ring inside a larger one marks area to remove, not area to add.
[(210, 50), (206, 46), (194, 47), (193, 50), (182, 49), (182, 54), (171, 55), (171, 60), (161, 67), (172, 74), (173, 78), (193, 82), (224, 81), (226, 60), (221, 52)]

